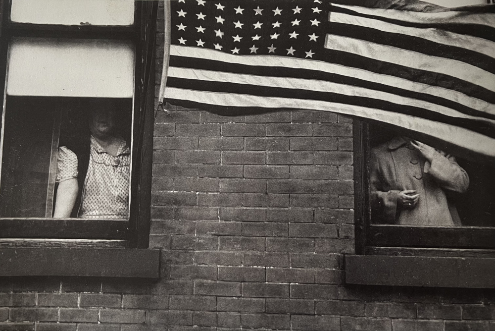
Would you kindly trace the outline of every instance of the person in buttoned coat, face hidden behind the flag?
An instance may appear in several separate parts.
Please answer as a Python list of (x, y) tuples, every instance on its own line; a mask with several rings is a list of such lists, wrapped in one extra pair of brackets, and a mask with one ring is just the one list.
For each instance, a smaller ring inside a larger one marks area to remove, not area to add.
[(372, 149), (370, 166), (372, 221), (461, 225), (448, 195), (466, 192), (469, 176), (453, 156), (408, 137), (396, 136)]

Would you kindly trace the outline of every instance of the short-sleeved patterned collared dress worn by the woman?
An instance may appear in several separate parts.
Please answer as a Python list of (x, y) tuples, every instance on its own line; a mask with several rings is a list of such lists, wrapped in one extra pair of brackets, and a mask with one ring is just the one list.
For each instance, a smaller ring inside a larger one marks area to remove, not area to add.
[[(59, 147), (56, 181), (78, 175), (77, 156), (66, 147)], [(120, 142), (117, 156), (104, 151), (91, 137), (88, 172), (82, 188), (79, 217), (85, 219), (128, 219), (131, 154), (125, 140)]]

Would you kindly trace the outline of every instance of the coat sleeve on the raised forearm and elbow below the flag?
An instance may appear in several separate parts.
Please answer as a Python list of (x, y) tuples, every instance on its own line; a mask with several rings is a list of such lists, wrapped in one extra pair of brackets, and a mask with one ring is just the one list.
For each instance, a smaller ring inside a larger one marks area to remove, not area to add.
[(460, 167), (453, 156), (438, 151), (433, 156), (431, 164), (425, 163), (424, 172), (435, 178), (444, 189), (464, 193), (469, 187), (469, 175)]

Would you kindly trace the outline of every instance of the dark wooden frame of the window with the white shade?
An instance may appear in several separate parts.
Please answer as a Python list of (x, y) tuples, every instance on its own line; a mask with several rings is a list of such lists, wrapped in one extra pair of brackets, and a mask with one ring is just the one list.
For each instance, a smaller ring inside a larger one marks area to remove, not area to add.
[[(0, 77), (5, 77), (13, 37), (130, 40), (135, 45), (133, 146), (129, 221), (1, 218), (1, 239), (101, 239), (127, 248), (148, 248), (154, 117), (154, 45), (157, 1), (135, 1), (132, 26), (65, 26), (10, 21), (10, 0), (0, 0)], [(146, 7), (145, 7), (146, 6)], [(148, 24), (148, 29), (145, 25)], [(152, 29), (149, 29), (152, 27)], [(147, 31), (148, 30), (148, 31)], [(149, 31), (151, 30), (151, 32)], [(5, 80), (0, 79), (0, 90)], [(3, 95), (2, 97), (3, 98)], [(3, 100), (2, 100), (3, 103)], [(2, 110), (3, 111), (3, 110)], [(0, 275), (1, 276), (1, 275)]]

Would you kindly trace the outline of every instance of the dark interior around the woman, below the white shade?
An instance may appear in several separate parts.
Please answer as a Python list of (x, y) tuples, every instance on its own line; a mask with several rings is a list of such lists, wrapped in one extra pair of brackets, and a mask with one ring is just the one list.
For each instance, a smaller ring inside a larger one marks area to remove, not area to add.
[[(7, 96), (0, 181), (0, 217), (50, 218), (56, 189), (57, 149), (88, 154), (91, 104), (118, 113), (117, 131), (131, 142), (132, 99)], [(109, 102), (109, 103), (108, 103)], [(71, 217), (77, 217), (76, 203)]]

